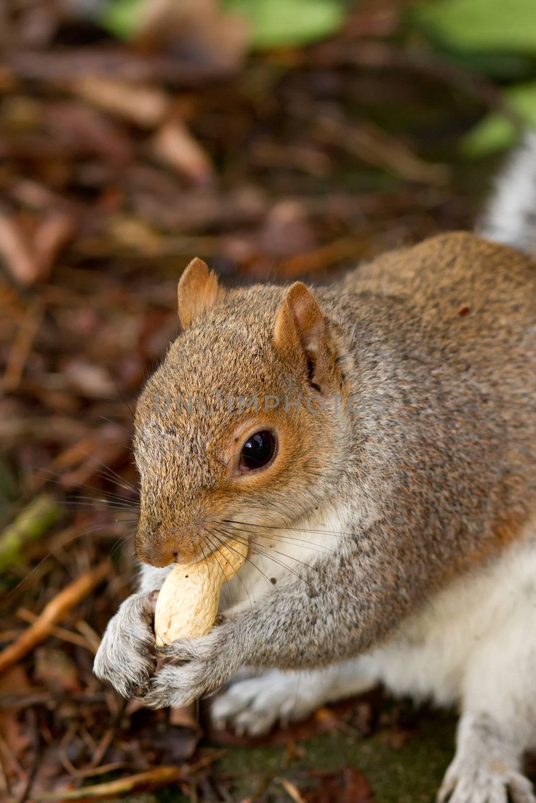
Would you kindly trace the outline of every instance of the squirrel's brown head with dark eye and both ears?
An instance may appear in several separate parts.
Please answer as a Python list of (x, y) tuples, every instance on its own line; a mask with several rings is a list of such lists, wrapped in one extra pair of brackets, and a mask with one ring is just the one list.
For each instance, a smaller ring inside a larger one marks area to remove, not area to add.
[(333, 332), (304, 284), (225, 290), (194, 259), (178, 314), (135, 417), (136, 551), (156, 566), (313, 511), (333, 496), (347, 432), (329, 399), (344, 395)]

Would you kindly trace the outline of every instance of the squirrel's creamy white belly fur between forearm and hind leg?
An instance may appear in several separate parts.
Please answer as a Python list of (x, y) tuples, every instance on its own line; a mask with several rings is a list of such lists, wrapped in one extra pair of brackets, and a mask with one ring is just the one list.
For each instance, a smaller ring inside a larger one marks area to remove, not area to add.
[(437, 594), (391, 642), (358, 658), (359, 670), (397, 695), (450, 704), (463, 697), (472, 662), (488, 663), (493, 673), (497, 646), (516, 653), (533, 642), (536, 650), (534, 532)]

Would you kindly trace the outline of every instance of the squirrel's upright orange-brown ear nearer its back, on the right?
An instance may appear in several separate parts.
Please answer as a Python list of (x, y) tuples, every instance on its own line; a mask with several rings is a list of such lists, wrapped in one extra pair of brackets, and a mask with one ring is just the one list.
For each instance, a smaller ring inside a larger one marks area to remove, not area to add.
[(285, 360), (306, 361), (311, 385), (321, 389), (329, 357), (325, 321), (313, 293), (302, 282), (293, 283), (285, 293), (276, 318), (273, 344)]

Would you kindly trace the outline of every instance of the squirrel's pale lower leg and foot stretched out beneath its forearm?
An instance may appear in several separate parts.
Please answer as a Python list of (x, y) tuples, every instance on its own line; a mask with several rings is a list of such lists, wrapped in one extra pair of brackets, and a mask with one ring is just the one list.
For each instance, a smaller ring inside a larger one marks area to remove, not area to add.
[(285, 727), (305, 719), (325, 703), (362, 694), (374, 687), (359, 659), (313, 671), (280, 672), (233, 682), (211, 705), (215, 728), (227, 724), (239, 735), (261, 736), (277, 721)]

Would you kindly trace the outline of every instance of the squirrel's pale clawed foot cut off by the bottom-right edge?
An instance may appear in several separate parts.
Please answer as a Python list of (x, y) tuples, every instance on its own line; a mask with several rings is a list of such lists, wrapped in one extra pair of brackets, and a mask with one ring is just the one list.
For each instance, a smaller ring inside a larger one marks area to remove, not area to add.
[(507, 765), (457, 760), (447, 770), (437, 803), (536, 803), (532, 784)]

